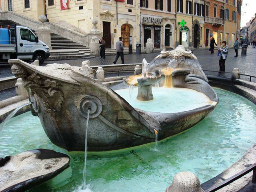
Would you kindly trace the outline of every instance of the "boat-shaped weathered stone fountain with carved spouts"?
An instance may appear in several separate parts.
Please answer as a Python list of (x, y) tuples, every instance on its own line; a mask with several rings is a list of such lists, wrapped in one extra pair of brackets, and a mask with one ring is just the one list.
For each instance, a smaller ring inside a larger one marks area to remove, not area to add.
[[(211, 100), (203, 107), (177, 113), (133, 108), (116, 92), (92, 78), (88, 65), (82, 68), (68, 64), (34, 66), (18, 59), (9, 60), (9, 63), (12, 73), (22, 78), (47, 136), (52, 143), (68, 151), (84, 151), (87, 118), (90, 118), (88, 150), (117, 150), (153, 142), (155, 131), (161, 140), (187, 130), (218, 104), (218, 96), (208, 84), (196, 56), (183, 46), (161, 52), (148, 64), (149, 75), (140, 75), (137, 80), (138, 99), (151, 100), (152, 84), (161, 82), (164, 79), (162, 71), (175, 64), (172, 87), (196, 90)], [(129, 84), (126, 79), (124, 81)]]

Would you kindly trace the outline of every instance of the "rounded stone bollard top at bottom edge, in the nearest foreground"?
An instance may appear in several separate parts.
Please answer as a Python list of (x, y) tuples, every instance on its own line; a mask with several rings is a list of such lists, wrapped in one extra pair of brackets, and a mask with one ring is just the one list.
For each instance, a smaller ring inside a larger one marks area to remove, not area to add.
[(174, 176), (172, 185), (165, 192), (204, 192), (204, 190), (200, 187), (200, 181), (195, 174), (184, 171)]

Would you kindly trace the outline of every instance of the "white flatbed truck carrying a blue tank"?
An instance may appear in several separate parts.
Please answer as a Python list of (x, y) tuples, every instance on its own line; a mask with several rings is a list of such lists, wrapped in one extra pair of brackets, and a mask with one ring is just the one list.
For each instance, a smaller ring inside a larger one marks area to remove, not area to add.
[(50, 56), (49, 47), (28, 27), (7, 26), (0, 28), (0, 62), (8, 59), (44, 60)]

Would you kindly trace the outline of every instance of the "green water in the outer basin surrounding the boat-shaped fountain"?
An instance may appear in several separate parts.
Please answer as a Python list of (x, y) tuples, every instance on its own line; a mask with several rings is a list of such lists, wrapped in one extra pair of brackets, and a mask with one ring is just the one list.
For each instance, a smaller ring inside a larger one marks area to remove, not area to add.
[(70, 168), (30, 192), (158, 192), (181, 171), (193, 172), (205, 182), (238, 160), (256, 138), (256, 106), (237, 94), (215, 91), (216, 110), (190, 130), (159, 141), (157, 151), (152, 140), (119, 151), (88, 152), (86, 190), (82, 190), (84, 152), (68, 153), (52, 144), (39, 118), (30, 112), (6, 123), (0, 134), (0, 156), (46, 148), (71, 157)]

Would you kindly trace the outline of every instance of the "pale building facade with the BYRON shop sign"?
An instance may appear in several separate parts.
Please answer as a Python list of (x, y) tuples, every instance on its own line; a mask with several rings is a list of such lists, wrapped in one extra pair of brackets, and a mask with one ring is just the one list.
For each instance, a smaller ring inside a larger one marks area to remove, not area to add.
[(152, 38), (154, 48), (174, 48), (174, 0), (140, 0), (140, 18), (142, 50), (148, 38)]

